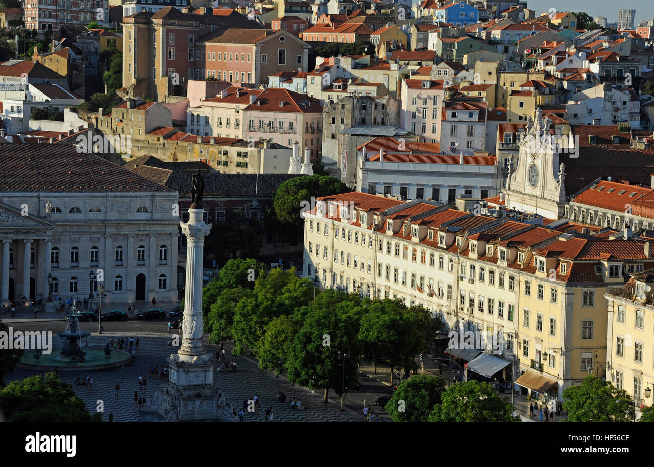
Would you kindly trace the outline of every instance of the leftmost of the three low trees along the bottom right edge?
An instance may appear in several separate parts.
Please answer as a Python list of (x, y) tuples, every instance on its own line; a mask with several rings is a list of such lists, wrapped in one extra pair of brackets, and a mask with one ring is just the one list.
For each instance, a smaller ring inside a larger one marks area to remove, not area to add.
[(444, 391), (445, 379), (440, 376), (412, 376), (400, 383), (385, 409), (394, 422), (424, 422)]

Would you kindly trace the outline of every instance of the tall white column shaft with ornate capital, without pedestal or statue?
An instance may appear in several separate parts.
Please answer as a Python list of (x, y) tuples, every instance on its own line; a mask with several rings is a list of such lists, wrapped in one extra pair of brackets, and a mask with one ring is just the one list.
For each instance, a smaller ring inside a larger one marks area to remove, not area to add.
[(202, 346), (202, 276), (204, 238), (211, 225), (203, 220), (203, 209), (189, 208), (188, 222), (180, 223), (186, 235), (186, 294), (182, 322), (182, 348), (179, 355), (204, 355)]

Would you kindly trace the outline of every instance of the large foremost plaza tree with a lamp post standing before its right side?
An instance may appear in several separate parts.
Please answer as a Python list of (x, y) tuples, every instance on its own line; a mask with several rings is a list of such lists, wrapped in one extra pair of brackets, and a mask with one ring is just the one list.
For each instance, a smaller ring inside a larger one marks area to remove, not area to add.
[(345, 359), (345, 379), (356, 381), (362, 348), (357, 338), (361, 301), (345, 295), (336, 306), (330, 306), (338, 300), (333, 291), (326, 291), (296, 314), (296, 318), (302, 317), (303, 321), (286, 365), (288, 381), (315, 391), (324, 390), (324, 402), (327, 402), (330, 388), (339, 393), (343, 386), (339, 351), (349, 351), (350, 358)]

